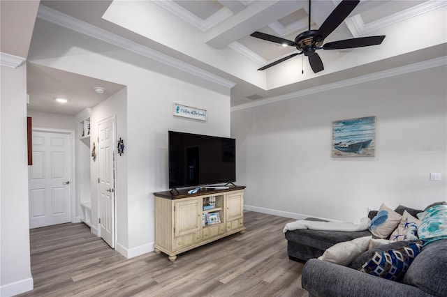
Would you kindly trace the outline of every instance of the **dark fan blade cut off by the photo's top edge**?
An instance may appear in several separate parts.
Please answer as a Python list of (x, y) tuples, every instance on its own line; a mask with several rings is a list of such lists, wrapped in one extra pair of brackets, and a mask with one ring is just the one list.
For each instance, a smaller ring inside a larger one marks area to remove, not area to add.
[(321, 24), (320, 29), (318, 29), (318, 32), (314, 36), (314, 41), (318, 43), (328, 37), (339, 24), (342, 24), (344, 19), (356, 8), (358, 3), (360, 3), (359, 0), (343, 0), (340, 2), (323, 24)]

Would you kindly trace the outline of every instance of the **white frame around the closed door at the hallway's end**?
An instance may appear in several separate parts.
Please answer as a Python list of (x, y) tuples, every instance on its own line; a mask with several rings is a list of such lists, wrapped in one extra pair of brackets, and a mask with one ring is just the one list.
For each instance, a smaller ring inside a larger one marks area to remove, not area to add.
[[(76, 218), (76, 208), (75, 208), (75, 201), (76, 201), (76, 171), (75, 171), (75, 130), (64, 130), (64, 129), (53, 129), (53, 128), (41, 128), (41, 127), (35, 127), (33, 128), (33, 132), (49, 132), (49, 133), (59, 133), (59, 134), (66, 134), (70, 136), (70, 183), (71, 183), (71, 222), (80, 222), (80, 218)], [(28, 200), (29, 200), (29, 194), (28, 194)]]

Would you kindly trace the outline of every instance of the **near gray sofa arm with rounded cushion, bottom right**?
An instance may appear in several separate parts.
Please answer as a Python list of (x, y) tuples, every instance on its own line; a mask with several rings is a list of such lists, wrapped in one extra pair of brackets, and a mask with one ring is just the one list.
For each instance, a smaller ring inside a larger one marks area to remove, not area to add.
[(401, 282), (353, 268), (310, 259), (302, 271), (302, 288), (309, 296), (447, 296), (447, 239), (426, 245)]

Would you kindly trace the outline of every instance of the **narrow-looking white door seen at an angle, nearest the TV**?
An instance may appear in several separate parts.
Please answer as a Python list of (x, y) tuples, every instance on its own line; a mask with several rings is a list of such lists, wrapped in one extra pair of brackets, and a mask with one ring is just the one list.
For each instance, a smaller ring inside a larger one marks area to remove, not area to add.
[(101, 238), (115, 248), (115, 118), (98, 123)]

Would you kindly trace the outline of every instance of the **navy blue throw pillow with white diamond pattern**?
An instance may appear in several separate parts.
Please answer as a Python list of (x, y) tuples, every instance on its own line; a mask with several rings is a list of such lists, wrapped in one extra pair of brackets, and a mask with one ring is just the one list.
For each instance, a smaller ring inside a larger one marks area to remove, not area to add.
[(402, 280), (411, 262), (423, 248), (422, 241), (414, 241), (395, 250), (376, 251), (358, 270), (387, 280)]

